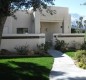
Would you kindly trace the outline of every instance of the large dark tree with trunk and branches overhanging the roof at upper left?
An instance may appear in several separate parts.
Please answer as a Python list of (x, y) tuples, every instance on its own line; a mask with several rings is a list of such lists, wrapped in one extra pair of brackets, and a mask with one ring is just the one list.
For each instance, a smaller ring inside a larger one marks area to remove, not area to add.
[(0, 0), (0, 44), (3, 32), (4, 23), (7, 16), (14, 16), (14, 12), (19, 9), (28, 10), (33, 7), (33, 10), (47, 8), (48, 4), (53, 5), (54, 0)]

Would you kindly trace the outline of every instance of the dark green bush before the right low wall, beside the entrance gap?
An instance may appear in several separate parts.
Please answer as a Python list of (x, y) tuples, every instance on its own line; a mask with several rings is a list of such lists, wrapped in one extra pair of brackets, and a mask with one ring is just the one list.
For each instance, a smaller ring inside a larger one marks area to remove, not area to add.
[(56, 39), (55, 49), (61, 50), (61, 51), (66, 51), (68, 49), (67, 45), (68, 44), (66, 44), (64, 40), (60, 41), (60, 40)]

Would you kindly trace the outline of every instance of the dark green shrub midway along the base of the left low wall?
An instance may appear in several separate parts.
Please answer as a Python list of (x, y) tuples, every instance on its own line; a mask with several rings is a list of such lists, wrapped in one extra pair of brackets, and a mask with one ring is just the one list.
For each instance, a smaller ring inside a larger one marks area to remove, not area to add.
[(16, 46), (15, 50), (19, 55), (27, 55), (29, 52), (28, 45)]

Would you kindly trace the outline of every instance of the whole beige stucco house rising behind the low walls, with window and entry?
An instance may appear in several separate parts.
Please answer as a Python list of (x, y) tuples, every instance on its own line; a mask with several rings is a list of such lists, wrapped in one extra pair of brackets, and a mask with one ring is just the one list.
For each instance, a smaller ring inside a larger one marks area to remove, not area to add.
[(46, 41), (53, 39), (54, 33), (71, 33), (71, 16), (66, 7), (49, 7), (55, 11), (51, 15), (42, 10), (17, 11), (17, 19), (8, 17), (4, 25), (3, 34), (40, 34), (45, 33)]

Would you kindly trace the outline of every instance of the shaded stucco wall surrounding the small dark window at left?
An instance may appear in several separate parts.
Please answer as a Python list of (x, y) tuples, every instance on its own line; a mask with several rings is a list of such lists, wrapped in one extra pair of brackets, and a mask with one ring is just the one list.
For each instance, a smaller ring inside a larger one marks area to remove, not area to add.
[(17, 28), (28, 28), (29, 33), (34, 33), (34, 17), (31, 11), (17, 11), (15, 14), (17, 19), (8, 17), (3, 34), (16, 34)]

